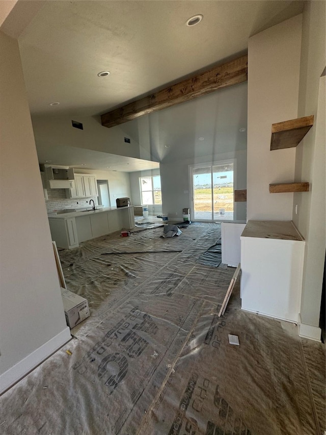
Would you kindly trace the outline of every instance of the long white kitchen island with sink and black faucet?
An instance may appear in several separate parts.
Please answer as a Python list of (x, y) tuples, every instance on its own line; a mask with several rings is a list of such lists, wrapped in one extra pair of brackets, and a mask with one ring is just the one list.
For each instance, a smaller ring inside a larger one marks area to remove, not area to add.
[(134, 227), (133, 207), (106, 207), (49, 216), (52, 240), (57, 246), (72, 249), (80, 242)]

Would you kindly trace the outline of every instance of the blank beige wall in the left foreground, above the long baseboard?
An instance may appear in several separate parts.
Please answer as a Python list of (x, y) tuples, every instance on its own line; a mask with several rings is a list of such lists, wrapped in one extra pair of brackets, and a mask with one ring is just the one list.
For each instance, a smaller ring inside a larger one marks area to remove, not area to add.
[(2, 32), (0, 38), (3, 374), (55, 336), (66, 334), (68, 339), (70, 334), (53, 257), (19, 48), (16, 40)]

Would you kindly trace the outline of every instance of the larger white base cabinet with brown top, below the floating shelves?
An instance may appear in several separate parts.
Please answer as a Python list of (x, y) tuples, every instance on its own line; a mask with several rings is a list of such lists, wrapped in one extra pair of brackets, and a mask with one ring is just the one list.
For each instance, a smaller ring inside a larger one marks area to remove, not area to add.
[(248, 221), (241, 239), (241, 308), (297, 323), (305, 241), (292, 221)]

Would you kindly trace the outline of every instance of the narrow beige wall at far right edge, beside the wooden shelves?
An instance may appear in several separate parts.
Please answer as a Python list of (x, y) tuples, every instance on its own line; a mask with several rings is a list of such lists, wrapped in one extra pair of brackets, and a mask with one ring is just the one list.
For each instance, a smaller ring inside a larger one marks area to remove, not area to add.
[[(325, 256), (325, 2), (308, 2), (303, 14), (298, 116), (314, 125), (296, 147), (295, 177), (310, 191), (295, 193), (293, 221), (307, 240), (302, 292), (303, 323), (319, 326)], [(297, 214), (295, 205), (297, 204)]]

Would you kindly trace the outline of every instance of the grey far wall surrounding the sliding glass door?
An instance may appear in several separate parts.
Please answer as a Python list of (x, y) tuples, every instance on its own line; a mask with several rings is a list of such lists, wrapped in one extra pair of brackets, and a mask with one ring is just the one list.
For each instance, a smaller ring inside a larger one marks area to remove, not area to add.
[[(163, 211), (169, 214), (169, 219), (182, 220), (182, 209), (191, 208), (192, 192), (191, 181), (189, 180), (189, 165), (228, 159), (235, 159), (236, 184), (234, 189), (246, 189), (246, 150), (224, 153), (213, 150), (210, 156), (174, 162), (168, 161), (160, 164)], [(237, 204), (235, 211), (234, 220), (246, 220), (246, 202)]]

